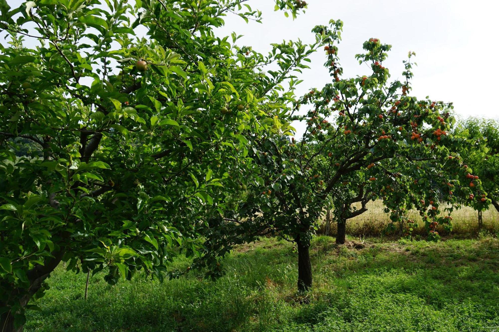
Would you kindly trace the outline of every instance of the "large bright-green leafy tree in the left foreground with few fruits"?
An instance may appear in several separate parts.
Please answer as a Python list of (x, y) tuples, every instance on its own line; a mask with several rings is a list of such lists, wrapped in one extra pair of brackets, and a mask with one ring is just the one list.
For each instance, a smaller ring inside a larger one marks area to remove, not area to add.
[(59, 262), (114, 284), (162, 280), (179, 248), (205, 255), (208, 220), (241, 196), (229, 172), (248, 172), (247, 137), (271, 134), (311, 52), (217, 37), (227, 13), (260, 19), (239, 0), (101, 2), (0, 0), (2, 331), (22, 329)]

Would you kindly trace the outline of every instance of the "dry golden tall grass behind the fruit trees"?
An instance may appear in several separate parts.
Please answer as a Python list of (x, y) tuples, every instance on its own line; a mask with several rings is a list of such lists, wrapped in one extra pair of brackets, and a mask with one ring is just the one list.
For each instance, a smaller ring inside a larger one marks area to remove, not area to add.
[[(445, 206), (441, 205), (441, 208)], [(370, 201), (367, 204), (368, 210), (363, 214), (347, 220), (346, 232), (354, 236), (378, 236), (383, 233), (383, 230), (391, 222), (389, 215), (383, 211), (383, 203), (381, 201)], [(424, 230), (423, 221), (418, 211), (412, 210), (409, 212), (409, 218), (417, 221), (418, 228), (413, 234), (426, 234)], [(452, 213), (454, 229), (452, 234), (467, 234), (477, 233), (478, 229), (478, 212), (473, 208), (465, 206)], [(324, 220), (323, 220), (324, 221)], [(491, 233), (499, 232), (499, 212), (492, 207), (491, 209), (483, 212), (483, 230)], [(447, 235), (443, 227), (438, 229), (441, 235)], [(319, 234), (324, 232), (324, 223), (318, 231)], [(336, 233), (335, 222), (331, 223), (331, 233)]]

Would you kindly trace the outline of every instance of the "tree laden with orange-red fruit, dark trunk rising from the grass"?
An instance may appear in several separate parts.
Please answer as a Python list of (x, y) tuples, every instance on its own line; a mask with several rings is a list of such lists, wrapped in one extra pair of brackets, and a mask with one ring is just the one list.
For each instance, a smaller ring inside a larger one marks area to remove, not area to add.
[[(310, 239), (325, 206), (334, 207), (341, 244), (346, 221), (365, 212), (369, 200), (382, 199), (394, 222), (417, 208), (429, 240), (439, 239), (439, 227), (452, 227), (450, 213), (464, 198), (489, 204), (481, 199), (481, 180), (469, 177), (459, 155), (458, 146), (469, 142), (451, 134), (452, 104), (410, 95), (414, 54), (404, 61), (404, 80), (389, 81), (383, 63), (391, 46), (370, 38), (356, 55), (369, 70), (344, 78), (337, 47), (342, 25), (332, 20), (313, 29), (332, 82), (295, 101), (289, 119), (305, 122), (303, 137), (289, 139), (287, 124), (276, 123), (276, 136), (250, 142), (258, 190), (207, 235), (212, 252), (265, 234), (295, 242), (299, 291), (312, 285)], [(443, 209), (441, 202), (451, 206)]]

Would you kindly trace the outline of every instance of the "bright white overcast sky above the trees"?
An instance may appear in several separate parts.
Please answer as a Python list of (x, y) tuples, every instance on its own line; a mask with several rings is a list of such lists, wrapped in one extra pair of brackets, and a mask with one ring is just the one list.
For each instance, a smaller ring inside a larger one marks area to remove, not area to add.
[[(408, 51), (415, 51), (412, 95), (430, 96), (433, 100), (454, 102), (455, 111), (462, 117), (481, 116), (499, 119), (496, 82), (499, 77), (497, 42), (499, 28), (498, 0), (309, 0), (305, 14), (296, 20), (273, 11), (272, 0), (250, 0), (247, 3), (260, 9), (263, 23), (246, 24), (239, 16), (229, 13), (226, 26), (217, 29), (219, 36), (232, 31), (243, 34), (240, 46), (252, 46), (266, 53), (269, 44), (300, 38), (312, 42), (312, 27), (327, 24), (329, 19), (344, 22), (339, 45), (344, 77), (367, 74), (355, 54), (362, 52), (362, 43), (371, 37), (393, 45), (384, 66), (392, 78), (400, 78), (402, 60)], [(12, 7), (19, 0), (7, 0)], [(2, 43), (4, 40), (1, 41)], [(330, 80), (322, 66), (323, 51), (311, 57), (311, 69), (304, 70), (297, 94), (312, 87), (321, 88)], [(487, 101), (487, 99), (493, 99)], [(301, 126), (297, 126), (301, 127)], [(297, 128), (301, 132), (301, 128)]]

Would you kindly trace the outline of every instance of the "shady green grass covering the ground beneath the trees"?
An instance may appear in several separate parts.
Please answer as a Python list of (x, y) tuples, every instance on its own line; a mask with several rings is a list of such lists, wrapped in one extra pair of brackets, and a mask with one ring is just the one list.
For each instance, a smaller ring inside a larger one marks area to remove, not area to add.
[[(59, 267), (25, 331), (494, 331), (499, 329), (499, 240), (313, 240), (313, 290), (296, 294), (291, 243), (239, 247), (217, 282), (191, 271), (115, 286)], [(175, 268), (189, 265), (186, 259)]]

